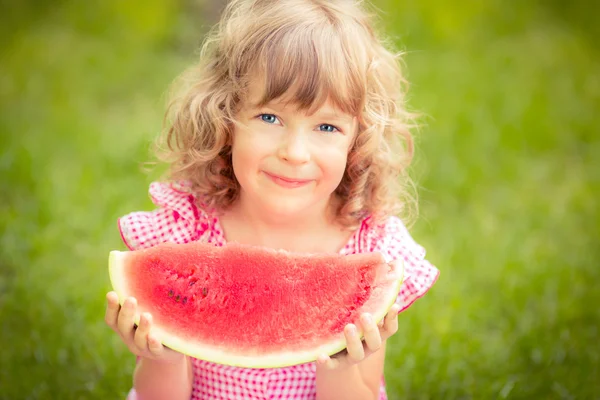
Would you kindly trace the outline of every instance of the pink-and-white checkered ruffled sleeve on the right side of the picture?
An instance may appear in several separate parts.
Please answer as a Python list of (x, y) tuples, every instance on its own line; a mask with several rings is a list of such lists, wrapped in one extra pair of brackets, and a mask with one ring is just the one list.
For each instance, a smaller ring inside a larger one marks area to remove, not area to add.
[(373, 224), (363, 240), (370, 251), (380, 252), (387, 262), (404, 261), (404, 282), (396, 303), (406, 310), (425, 295), (439, 276), (439, 270), (425, 259), (425, 249), (417, 244), (398, 217)]

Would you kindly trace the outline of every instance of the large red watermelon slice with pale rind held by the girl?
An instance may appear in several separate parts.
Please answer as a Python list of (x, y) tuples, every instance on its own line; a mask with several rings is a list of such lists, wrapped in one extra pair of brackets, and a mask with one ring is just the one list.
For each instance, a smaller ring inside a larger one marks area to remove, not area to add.
[(343, 350), (346, 324), (360, 330), (363, 312), (385, 317), (403, 266), (386, 264), (379, 253), (193, 242), (112, 251), (109, 271), (120, 301), (135, 297), (165, 346), (219, 364), (267, 368)]

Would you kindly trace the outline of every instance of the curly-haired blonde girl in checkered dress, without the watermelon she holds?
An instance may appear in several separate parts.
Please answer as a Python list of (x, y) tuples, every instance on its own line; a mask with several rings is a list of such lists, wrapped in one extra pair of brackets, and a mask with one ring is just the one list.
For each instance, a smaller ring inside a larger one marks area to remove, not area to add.
[[(386, 340), (438, 270), (393, 216), (412, 155), (396, 59), (350, 0), (232, 0), (185, 80), (166, 135), (168, 182), (152, 212), (119, 220), (130, 249), (241, 242), (404, 260), (397, 304), (345, 329), (347, 351), (244, 369), (163, 347), (135, 299), (107, 295), (106, 321), (138, 356), (131, 399), (385, 399)], [(405, 199), (405, 200), (402, 200)]]

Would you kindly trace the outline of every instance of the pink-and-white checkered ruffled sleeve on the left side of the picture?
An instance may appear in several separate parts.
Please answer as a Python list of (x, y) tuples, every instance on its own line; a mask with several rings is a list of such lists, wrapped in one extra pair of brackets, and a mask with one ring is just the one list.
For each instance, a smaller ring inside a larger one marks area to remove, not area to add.
[(130, 250), (145, 249), (164, 242), (187, 243), (197, 240), (207, 230), (207, 218), (184, 188), (154, 182), (150, 198), (157, 206), (153, 211), (137, 211), (118, 220), (125, 245)]

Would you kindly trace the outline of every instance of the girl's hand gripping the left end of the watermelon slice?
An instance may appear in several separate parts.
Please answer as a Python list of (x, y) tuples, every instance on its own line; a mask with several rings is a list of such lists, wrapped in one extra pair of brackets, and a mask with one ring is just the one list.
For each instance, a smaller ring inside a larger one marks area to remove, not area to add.
[(121, 340), (133, 354), (168, 363), (178, 363), (185, 358), (183, 354), (163, 346), (152, 335), (152, 316), (149, 313), (140, 316), (138, 327), (134, 325), (134, 318), (138, 312), (137, 301), (134, 297), (125, 299), (123, 306), (119, 305), (119, 297), (115, 292), (109, 292), (106, 300), (108, 304), (104, 320), (121, 336)]

